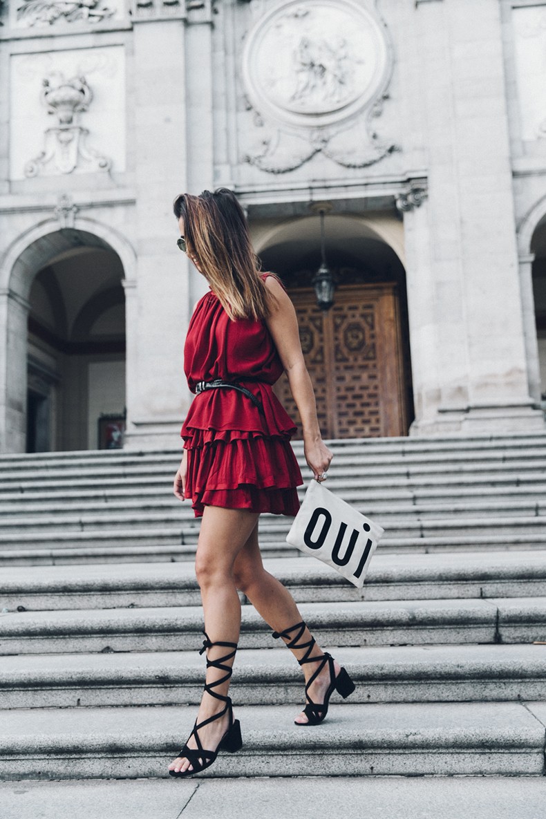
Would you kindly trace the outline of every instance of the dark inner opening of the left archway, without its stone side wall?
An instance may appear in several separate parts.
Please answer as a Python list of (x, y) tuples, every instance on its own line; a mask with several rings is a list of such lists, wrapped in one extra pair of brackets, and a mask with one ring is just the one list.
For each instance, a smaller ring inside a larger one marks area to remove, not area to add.
[(36, 274), (29, 294), (28, 452), (122, 445), (115, 436), (125, 408), (122, 278), (119, 256), (85, 246), (54, 256)]

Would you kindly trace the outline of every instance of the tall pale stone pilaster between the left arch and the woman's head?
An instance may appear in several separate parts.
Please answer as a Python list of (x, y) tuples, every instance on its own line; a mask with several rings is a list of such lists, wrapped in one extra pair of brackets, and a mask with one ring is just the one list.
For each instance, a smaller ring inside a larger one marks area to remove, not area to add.
[[(137, 188), (138, 261), (136, 283), (126, 289), (129, 448), (179, 446), (187, 408), (188, 263), (176, 247), (172, 210), (187, 181), (185, 23), (165, 9), (158, 8), (156, 19), (137, 19), (134, 25), (129, 153)], [(179, 14), (185, 15), (185, 7)]]

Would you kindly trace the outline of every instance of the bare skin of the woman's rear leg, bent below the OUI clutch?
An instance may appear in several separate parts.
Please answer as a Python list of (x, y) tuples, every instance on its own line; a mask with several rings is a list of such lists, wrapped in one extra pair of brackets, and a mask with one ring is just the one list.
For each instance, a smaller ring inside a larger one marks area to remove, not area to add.
[[(262, 556), (258, 545), (258, 523), (250, 533), (244, 547), (237, 554), (237, 559), (233, 563), (233, 575), (237, 588), (240, 589), (250, 600), (256, 611), (264, 618), (273, 631), (285, 631), (287, 628), (296, 626), (302, 622), (303, 617), (296, 606), (296, 601), (291, 593), (282, 585), (276, 577), (266, 572)], [(290, 640), (297, 635), (297, 631), (292, 631)], [(285, 640), (285, 643), (290, 640)], [(311, 640), (311, 633), (305, 628), (301, 636), (300, 643), (308, 643)], [(297, 660), (305, 657), (306, 649), (291, 649)], [(309, 657), (320, 659), (323, 657), (323, 650), (318, 643), (315, 643)], [(334, 660), (336, 675), (340, 672), (341, 666)], [(305, 663), (302, 666), (305, 675), (305, 682), (313, 676), (317, 670), (315, 663)], [(326, 690), (330, 685), (330, 671), (326, 665), (318, 675), (312, 686), (309, 687), (309, 696), (315, 703), (322, 703)], [(296, 722), (305, 724), (309, 722), (305, 713), (300, 713), (296, 717)]]

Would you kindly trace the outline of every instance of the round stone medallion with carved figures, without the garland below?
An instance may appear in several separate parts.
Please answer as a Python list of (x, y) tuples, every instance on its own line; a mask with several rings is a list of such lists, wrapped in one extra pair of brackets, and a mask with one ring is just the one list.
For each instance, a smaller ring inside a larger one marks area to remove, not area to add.
[(377, 20), (348, 0), (296, 0), (259, 20), (243, 78), (255, 106), (290, 124), (331, 124), (370, 102), (384, 80)]

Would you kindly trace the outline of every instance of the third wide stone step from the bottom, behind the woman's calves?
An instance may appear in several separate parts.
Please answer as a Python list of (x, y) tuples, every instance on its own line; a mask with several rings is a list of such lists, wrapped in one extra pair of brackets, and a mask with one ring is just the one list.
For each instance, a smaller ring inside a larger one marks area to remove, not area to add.
[[(546, 640), (546, 597), (300, 604), (323, 645), (532, 643)], [(8, 612), (0, 654), (184, 651), (201, 644), (197, 606)], [(272, 647), (270, 630), (243, 606), (241, 648)]]

